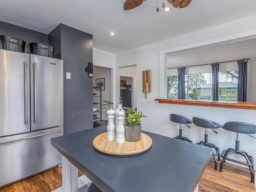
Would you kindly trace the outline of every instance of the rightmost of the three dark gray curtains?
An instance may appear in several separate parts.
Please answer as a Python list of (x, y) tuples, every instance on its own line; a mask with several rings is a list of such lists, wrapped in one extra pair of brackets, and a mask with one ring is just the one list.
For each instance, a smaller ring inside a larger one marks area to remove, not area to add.
[(247, 98), (247, 61), (238, 61), (238, 101)]

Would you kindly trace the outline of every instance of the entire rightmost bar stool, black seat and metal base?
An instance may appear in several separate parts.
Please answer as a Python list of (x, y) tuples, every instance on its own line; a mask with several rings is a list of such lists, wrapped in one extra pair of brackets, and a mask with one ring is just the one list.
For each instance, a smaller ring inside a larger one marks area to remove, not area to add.
[[(231, 121), (231, 122), (227, 122), (224, 125), (222, 125), (222, 128), (224, 130), (230, 131), (230, 132), (236, 132), (237, 133), (237, 139), (236, 139), (236, 147), (233, 148), (228, 148), (227, 150), (223, 150), (221, 157), (223, 158), (221, 161), (221, 165), (220, 165), (220, 172), (222, 172), (222, 167), (223, 167), (223, 163), (226, 162), (226, 160), (228, 161), (232, 161), (235, 163), (239, 163), (242, 165), (246, 165), (249, 166), (250, 172), (251, 172), (251, 182), (254, 183), (254, 169), (253, 169), (253, 165), (254, 165), (254, 159), (253, 157), (251, 157), (250, 155), (247, 154), (247, 152), (245, 151), (241, 151), (239, 149), (240, 147), (240, 141), (239, 141), (239, 133), (243, 133), (243, 134), (255, 134), (256, 133), (256, 125), (252, 124), (252, 123), (245, 123), (245, 122), (235, 122), (235, 121)], [(248, 135), (250, 137), (253, 137), (251, 135)], [(255, 137), (253, 137), (255, 139)], [(245, 158), (246, 163), (242, 162), (242, 161), (238, 161), (235, 159), (230, 159), (228, 158), (229, 154), (238, 154), (241, 155)]]

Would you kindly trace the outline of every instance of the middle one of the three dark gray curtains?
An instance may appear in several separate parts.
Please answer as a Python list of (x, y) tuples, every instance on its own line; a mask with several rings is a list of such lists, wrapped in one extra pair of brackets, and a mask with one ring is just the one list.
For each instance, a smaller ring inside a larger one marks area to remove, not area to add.
[(212, 73), (211, 94), (212, 94), (212, 100), (214, 101), (219, 100), (219, 71), (220, 71), (219, 63), (211, 64), (211, 73)]

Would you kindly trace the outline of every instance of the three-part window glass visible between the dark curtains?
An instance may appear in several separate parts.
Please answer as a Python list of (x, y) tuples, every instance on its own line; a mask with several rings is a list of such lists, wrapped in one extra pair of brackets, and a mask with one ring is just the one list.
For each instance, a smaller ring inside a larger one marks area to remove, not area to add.
[[(234, 65), (236, 67), (237, 65)], [(238, 71), (233, 65), (221, 66), (219, 73), (219, 100), (237, 101)], [(225, 69), (223, 69), (225, 67)], [(231, 69), (230, 69), (231, 68)], [(198, 71), (202, 73), (197, 73)], [(188, 68), (185, 75), (185, 94), (188, 100), (212, 100), (212, 74), (209, 66)], [(167, 76), (167, 98), (178, 99), (177, 69)]]

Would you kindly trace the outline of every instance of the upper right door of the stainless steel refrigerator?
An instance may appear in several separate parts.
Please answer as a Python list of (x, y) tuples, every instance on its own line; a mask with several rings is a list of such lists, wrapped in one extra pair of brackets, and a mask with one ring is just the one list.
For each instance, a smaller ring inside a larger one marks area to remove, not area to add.
[(30, 55), (31, 131), (63, 125), (63, 61)]

